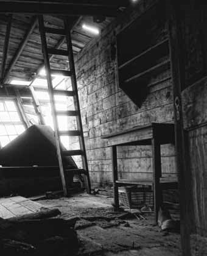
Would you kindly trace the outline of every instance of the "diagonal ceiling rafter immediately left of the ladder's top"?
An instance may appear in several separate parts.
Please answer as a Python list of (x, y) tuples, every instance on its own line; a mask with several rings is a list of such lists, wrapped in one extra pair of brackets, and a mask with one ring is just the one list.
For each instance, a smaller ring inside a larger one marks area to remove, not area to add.
[(16, 50), (15, 55), (13, 56), (11, 62), (9, 63), (9, 67), (7, 68), (7, 71), (5, 73), (3, 83), (5, 83), (9, 77), (10, 71), (12, 71), (13, 67), (15, 66), (17, 60), (19, 59), (19, 56), (24, 50), (24, 47), (27, 44), (27, 41), (29, 40), (30, 35), (32, 34), (33, 30), (37, 26), (37, 16), (34, 16), (32, 18), (32, 22), (30, 23), (29, 29), (27, 30), (26, 34), (24, 35), (23, 40), (19, 44), (19, 48)]

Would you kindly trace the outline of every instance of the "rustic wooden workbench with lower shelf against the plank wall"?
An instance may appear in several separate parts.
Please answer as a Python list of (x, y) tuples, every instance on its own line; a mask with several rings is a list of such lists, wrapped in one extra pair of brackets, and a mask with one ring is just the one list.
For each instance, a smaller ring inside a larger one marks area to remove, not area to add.
[[(118, 187), (123, 185), (152, 185), (155, 208), (155, 221), (157, 222), (158, 210), (162, 201), (161, 190), (164, 188), (175, 188), (175, 180), (161, 179), (161, 144), (175, 143), (174, 124), (152, 123), (147, 126), (136, 126), (124, 132), (112, 133), (102, 138), (108, 139), (111, 147), (111, 159), (113, 162), (113, 188), (114, 207), (119, 208)], [(144, 180), (118, 180), (118, 146), (152, 145), (153, 179)]]

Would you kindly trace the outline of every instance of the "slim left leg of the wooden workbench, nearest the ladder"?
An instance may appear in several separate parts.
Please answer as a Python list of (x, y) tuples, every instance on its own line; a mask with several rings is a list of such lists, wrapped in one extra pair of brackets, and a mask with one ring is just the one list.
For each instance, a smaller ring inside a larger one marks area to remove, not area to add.
[(117, 164), (117, 148), (116, 146), (111, 147), (111, 160), (112, 160), (112, 176), (113, 176), (113, 189), (114, 189), (114, 208), (119, 209), (119, 191), (118, 184), (118, 164)]

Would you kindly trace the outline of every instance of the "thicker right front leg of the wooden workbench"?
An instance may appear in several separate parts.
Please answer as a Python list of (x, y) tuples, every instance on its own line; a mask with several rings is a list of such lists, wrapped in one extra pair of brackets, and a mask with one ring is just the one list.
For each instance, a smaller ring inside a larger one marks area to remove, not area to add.
[(152, 138), (152, 160), (153, 160), (153, 196), (155, 208), (155, 224), (158, 222), (158, 211), (161, 206), (161, 152), (160, 143)]

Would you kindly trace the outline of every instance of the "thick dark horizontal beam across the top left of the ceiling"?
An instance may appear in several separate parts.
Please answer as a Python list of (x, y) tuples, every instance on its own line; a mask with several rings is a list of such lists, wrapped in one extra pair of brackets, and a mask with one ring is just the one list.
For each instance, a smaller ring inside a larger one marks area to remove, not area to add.
[[(112, 1), (113, 2), (113, 1)], [(52, 1), (1, 1), (0, 13), (27, 13), (33, 15), (106, 15), (116, 16), (119, 14), (120, 5), (103, 4), (77, 4), (73, 2), (52, 2)]]

